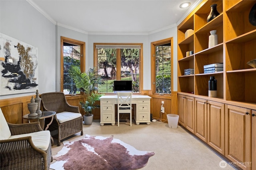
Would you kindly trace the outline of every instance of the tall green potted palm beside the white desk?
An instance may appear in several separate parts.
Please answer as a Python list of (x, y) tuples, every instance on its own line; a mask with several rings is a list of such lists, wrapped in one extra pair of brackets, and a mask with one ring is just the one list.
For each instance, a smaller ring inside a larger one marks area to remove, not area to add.
[(85, 102), (80, 101), (79, 104), (85, 111), (84, 124), (92, 124), (93, 114), (92, 110), (99, 108), (100, 105), (96, 101), (104, 94), (98, 93), (98, 87), (105, 84), (106, 79), (98, 75), (97, 68), (89, 68), (87, 72), (81, 72), (80, 67), (71, 66), (69, 74), (73, 79), (76, 88), (80, 89), (84, 94)]

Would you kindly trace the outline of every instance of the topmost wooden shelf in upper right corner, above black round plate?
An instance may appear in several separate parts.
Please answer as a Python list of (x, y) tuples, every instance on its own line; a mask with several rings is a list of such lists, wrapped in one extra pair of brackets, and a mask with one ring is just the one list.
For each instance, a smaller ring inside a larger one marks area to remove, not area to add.
[(240, 0), (228, 8), (226, 12), (244, 12), (245, 10), (251, 9), (255, 3), (253, 0)]

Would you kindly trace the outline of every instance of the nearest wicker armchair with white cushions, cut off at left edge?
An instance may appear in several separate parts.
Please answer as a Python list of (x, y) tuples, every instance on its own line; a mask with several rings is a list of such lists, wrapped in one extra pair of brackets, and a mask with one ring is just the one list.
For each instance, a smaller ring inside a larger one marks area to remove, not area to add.
[(52, 161), (50, 132), (43, 131), (39, 122), (7, 123), (1, 109), (0, 119), (0, 169), (48, 170)]

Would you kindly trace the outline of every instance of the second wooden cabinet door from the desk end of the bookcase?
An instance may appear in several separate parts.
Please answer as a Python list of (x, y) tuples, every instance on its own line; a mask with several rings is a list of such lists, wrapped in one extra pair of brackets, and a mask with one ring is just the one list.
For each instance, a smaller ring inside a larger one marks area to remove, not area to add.
[(194, 133), (195, 131), (195, 114), (194, 114), (194, 97), (186, 96), (185, 102), (185, 126), (190, 132)]

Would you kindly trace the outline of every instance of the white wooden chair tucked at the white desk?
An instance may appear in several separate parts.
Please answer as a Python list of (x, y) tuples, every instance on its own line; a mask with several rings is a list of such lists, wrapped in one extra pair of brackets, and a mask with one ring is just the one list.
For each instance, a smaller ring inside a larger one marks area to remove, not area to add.
[(119, 126), (120, 113), (130, 113), (130, 126), (132, 126), (132, 92), (117, 92), (117, 125)]

